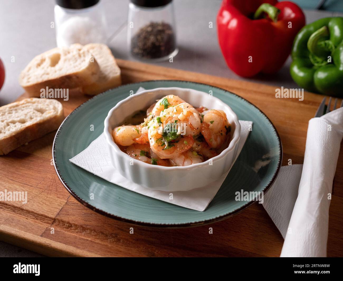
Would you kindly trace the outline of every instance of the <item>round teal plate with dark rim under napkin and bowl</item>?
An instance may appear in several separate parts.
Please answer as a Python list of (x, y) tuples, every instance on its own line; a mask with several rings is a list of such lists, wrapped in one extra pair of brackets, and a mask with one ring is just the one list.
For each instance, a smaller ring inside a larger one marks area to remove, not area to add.
[[(191, 88), (228, 104), (240, 120), (253, 121), (253, 129), (238, 159), (208, 208), (194, 211), (153, 199), (107, 182), (69, 162), (104, 130), (109, 110), (139, 87)], [(90, 126), (94, 125), (94, 131)], [(76, 108), (62, 123), (52, 147), (56, 172), (67, 190), (86, 207), (111, 218), (145, 226), (183, 227), (227, 218), (253, 201), (236, 201), (235, 192), (267, 191), (279, 173), (282, 145), (275, 127), (256, 106), (215, 86), (175, 80), (144, 81), (99, 94)], [(90, 194), (94, 199), (90, 199)]]

